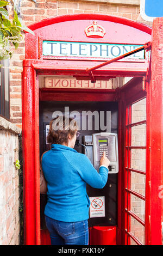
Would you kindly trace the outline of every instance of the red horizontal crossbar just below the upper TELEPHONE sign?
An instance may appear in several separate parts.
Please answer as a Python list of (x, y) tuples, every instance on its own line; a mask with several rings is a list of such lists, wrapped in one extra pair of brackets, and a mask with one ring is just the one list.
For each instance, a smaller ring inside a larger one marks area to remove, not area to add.
[[(93, 67), (101, 62), (88, 62), (81, 60), (23, 60), (24, 66), (33, 65), (40, 75), (67, 75), (67, 76), (85, 76), (86, 69)], [(147, 63), (135, 62), (116, 62), (111, 63), (99, 70), (95, 70), (93, 75), (98, 76), (145, 76), (147, 72)]]

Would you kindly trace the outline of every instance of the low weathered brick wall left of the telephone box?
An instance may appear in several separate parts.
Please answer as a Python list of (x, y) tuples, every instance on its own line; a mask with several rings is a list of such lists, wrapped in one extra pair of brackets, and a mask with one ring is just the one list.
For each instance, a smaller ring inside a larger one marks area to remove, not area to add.
[[(3, 124), (2, 124), (3, 123)], [(0, 118), (0, 245), (20, 244), (19, 174), (14, 162), (18, 160), (17, 127), (10, 129), (8, 121)], [(5, 127), (4, 127), (5, 126)]]

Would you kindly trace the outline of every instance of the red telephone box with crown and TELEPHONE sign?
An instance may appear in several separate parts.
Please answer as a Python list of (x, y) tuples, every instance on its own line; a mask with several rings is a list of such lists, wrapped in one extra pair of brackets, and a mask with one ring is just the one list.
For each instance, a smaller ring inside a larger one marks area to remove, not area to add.
[[(26, 59), (22, 72), (26, 245), (49, 244), (47, 230), (40, 229), (39, 152), (42, 137), (41, 133), (39, 135), (39, 102), (44, 101), (118, 103), (116, 244), (162, 245), (161, 21), (161, 18), (154, 21), (152, 38), (152, 29), (146, 25), (102, 14), (58, 16), (30, 26), (35, 35), (26, 34)], [(142, 46), (145, 46), (141, 49), (144, 50), (147, 42), (152, 42), (151, 60), (149, 52), (135, 51)], [(134, 56), (121, 58), (131, 51), (134, 51)], [(114, 62), (103, 65), (111, 59)], [(80, 88), (68, 88), (65, 82), (63, 88), (57, 88), (52, 86), (51, 81), (48, 88), (40, 86), (41, 79), (54, 75), (71, 76), (77, 81), (94, 83), (82, 87), (78, 82)], [(108, 89), (106, 85), (102, 87), (100, 82), (95, 87), (95, 81), (109, 81), (112, 77), (133, 78), (118, 89)], [(146, 116), (140, 120), (133, 117), (137, 102), (146, 106)], [(144, 127), (146, 143), (133, 144), (133, 131), (140, 126)], [(140, 151), (146, 155), (144, 169), (137, 169), (133, 165), (132, 157)], [(137, 176), (145, 181), (143, 192), (137, 192), (133, 187), (133, 180)], [(135, 200), (132, 200), (133, 197)], [(142, 215), (133, 211), (133, 202), (141, 202)], [(139, 234), (136, 229), (133, 231), (134, 226), (138, 227), (136, 223), (141, 227)]]

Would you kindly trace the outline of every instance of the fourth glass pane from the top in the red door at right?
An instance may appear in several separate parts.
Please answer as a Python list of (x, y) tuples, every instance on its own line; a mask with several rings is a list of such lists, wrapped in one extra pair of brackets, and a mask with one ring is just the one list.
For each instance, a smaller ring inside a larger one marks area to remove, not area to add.
[(146, 190), (146, 175), (141, 173), (135, 173), (131, 172), (131, 184), (130, 188), (131, 190), (142, 194), (142, 196), (145, 196), (145, 190)]

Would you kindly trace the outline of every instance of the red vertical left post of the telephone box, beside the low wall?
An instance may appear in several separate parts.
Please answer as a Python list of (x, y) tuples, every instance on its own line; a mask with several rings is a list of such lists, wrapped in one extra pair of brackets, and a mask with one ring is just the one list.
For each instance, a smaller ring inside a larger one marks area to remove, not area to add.
[(33, 68), (24, 67), (22, 78), (24, 243), (39, 245), (39, 88), (35, 86), (36, 77)]

